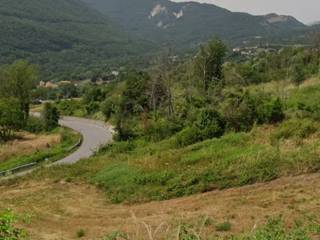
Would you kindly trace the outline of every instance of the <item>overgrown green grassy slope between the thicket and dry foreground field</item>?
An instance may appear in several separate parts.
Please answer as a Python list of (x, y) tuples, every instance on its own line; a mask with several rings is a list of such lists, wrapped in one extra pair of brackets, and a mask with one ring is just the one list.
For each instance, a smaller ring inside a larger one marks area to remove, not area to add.
[[(310, 123), (309, 127), (299, 126)], [(72, 166), (32, 173), (33, 179), (84, 180), (113, 203), (166, 200), (320, 170), (320, 123), (289, 119), (178, 148), (162, 142), (116, 142)]]

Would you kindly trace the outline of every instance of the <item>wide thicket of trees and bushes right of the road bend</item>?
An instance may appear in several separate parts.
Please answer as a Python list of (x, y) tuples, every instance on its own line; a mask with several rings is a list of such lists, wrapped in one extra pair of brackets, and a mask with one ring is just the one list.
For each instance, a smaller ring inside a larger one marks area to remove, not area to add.
[[(264, 52), (244, 62), (230, 60), (227, 51), (213, 40), (187, 63), (176, 66), (166, 58), (150, 72), (130, 71), (120, 83), (88, 87), (75, 111), (82, 106), (87, 115), (103, 113), (118, 140), (175, 135), (176, 144), (185, 146), (282, 121), (283, 100), (248, 86), (284, 80), (300, 85), (319, 73), (316, 47)], [(68, 103), (62, 106), (74, 106)]]

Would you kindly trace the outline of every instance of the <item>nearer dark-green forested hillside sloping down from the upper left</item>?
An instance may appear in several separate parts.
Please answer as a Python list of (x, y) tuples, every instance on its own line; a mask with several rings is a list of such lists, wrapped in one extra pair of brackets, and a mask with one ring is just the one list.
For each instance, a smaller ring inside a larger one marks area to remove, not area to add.
[(46, 79), (84, 78), (151, 47), (76, 0), (1, 1), (0, 45), (1, 64), (29, 59)]

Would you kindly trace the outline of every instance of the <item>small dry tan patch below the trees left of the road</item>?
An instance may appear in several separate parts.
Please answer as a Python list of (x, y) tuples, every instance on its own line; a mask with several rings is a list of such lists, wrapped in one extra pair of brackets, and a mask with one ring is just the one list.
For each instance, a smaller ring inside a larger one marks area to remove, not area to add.
[(35, 135), (30, 133), (19, 133), (18, 139), (0, 145), (0, 162), (14, 156), (31, 154), (59, 143), (60, 134)]

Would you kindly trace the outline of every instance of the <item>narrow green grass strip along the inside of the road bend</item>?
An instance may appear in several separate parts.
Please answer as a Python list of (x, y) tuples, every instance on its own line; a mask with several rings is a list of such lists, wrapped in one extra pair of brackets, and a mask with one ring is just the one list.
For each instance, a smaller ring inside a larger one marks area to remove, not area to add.
[(80, 136), (68, 128), (57, 128), (51, 132), (52, 134), (60, 134), (61, 141), (57, 144), (50, 146), (50, 148), (43, 150), (35, 150), (31, 154), (19, 155), (16, 153), (14, 157), (6, 159), (0, 162), (0, 171), (6, 171), (8, 169), (15, 168), (20, 165), (32, 163), (32, 162), (42, 162), (42, 161), (56, 161), (67, 154), (70, 154), (70, 147), (75, 145)]

